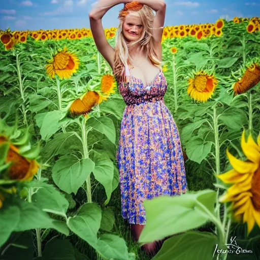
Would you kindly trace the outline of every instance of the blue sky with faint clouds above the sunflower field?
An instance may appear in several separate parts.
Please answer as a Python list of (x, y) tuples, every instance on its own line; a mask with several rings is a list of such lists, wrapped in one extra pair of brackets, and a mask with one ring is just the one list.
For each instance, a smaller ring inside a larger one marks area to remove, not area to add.
[[(3, 0), (2, 0), (3, 1)], [(1, 1), (1, 2), (2, 2)], [(5, 0), (0, 5), (0, 28), (38, 30), (89, 28), (88, 12), (94, 0)], [(167, 3), (166, 25), (214, 23), (218, 18), (260, 16), (260, 1), (254, 0), (197, 0)], [(103, 27), (118, 26), (119, 4), (103, 17)]]

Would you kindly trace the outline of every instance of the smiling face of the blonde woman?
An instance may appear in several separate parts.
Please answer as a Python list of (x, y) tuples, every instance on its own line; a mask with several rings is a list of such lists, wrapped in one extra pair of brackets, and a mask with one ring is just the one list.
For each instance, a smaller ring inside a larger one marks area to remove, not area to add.
[(143, 32), (143, 24), (139, 15), (128, 13), (123, 23), (123, 35), (128, 41), (138, 40)]

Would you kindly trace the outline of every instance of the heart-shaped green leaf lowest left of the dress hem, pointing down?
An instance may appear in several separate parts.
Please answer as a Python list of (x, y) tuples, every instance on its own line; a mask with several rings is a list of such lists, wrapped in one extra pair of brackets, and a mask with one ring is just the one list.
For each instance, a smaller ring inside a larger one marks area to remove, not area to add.
[(86, 203), (77, 215), (68, 218), (67, 225), (72, 232), (95, 247), (98, 243), (101, 216), (101, 208), (98, 204)]

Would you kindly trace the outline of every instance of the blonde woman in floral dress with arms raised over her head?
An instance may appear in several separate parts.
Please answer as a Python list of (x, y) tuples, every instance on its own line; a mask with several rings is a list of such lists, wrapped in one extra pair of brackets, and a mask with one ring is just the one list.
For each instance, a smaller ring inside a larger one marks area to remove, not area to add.
[[(121, 3), (124, 8), (119, 12), (112, 48), (104, 34), (102, 17)], [(100, 0), (89, 12), (96, 47), (110, 64), (126, 103), (116, 159), (122, 217), (132, 224), (136, 240), (146, 224), (145, 199), (186, 192), (179, 133), (164, 103), (167, 81), (161, 69), (161, 37), (165, 13), (163, 0)], [(156, 241), (144, 248), (155, 252)]]

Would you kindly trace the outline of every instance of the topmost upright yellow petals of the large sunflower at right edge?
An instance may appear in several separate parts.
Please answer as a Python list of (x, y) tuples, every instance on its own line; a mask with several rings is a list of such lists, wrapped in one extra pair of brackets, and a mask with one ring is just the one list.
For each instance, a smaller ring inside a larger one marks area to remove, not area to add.
[[(254, 142), (251, 134), (245, 141), (245, 131), (242, 134), (241, 147), (246, 157), (256, 164), (260, 163), (260, 147)], [(256, 170), (256, 169), (255, 169)]]

